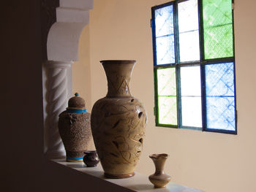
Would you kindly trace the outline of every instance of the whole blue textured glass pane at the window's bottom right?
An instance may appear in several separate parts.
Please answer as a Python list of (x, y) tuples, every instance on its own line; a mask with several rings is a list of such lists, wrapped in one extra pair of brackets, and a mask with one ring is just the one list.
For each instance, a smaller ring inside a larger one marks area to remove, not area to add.
[(234, 64), (206, 65), (207, 128), (236, 131)]

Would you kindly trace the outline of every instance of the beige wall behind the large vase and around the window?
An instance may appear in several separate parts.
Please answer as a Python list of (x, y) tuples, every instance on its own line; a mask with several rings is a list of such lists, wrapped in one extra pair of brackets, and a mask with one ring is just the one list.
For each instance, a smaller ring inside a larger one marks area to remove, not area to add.
[(99, 61), (137, 60), (131, 91), (148, 111), (146, 141), (137, 171), (151, 174), (154, 165), (148, 155), (168, 153), (165, 168), (175, 183), (208, 192), (256, 191), (256, 2), (235, 1), (238, 135), (154, 126), (151, 7), (165, 2), (94, 0), (89, 27), (80, 39), (81, 47), (89, 46), (80, 52), (80, 58), (90, 55), (73, 67), (74, 88), (86, 97), (91, 111), (92, 104), (107, 93), (105, 72)]

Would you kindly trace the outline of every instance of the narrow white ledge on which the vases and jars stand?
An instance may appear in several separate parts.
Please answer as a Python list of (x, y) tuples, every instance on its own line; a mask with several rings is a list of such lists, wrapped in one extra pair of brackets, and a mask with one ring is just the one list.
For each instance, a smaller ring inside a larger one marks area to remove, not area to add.
[(79, 172), (83, 172), (84, 174), (89, 174), (91, 176), (97, 177), (101, 180), (105, 180), (106, 182), (113, 183), (115, 185), (119, 185), (123, 188), (128, 188), (132, 191), (137, 192), (203, 192), (194, 188), (188, 188), (183, 185), (178, 185), (176, 183), (169, 183), (166, 188), (154, 188), (153, 184), (148, 180), (148, 176), (145, 174), (140, 174), (135, 172), (134, 177), (129, 177), (126, 179), (107, 179), (103, 175), (103, 169), (101, 164), (98, 164), (97, 167), (86, 167), (83, 162), (73, 163), (66, 162), (65, 159), (57, 159), (52, 160), (57, 164), (61, 164), (63, 166), (67, 166), (71, 169), (78, 170)]

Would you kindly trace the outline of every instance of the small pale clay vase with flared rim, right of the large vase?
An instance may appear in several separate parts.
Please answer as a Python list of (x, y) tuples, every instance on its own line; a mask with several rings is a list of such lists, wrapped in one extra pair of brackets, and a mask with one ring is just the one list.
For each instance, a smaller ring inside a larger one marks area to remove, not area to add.
[(164, 172), (165, 161), (168, 155), (166, 153), (162, 153), (149, 155), (149, 157), (154, 162), (156, 172), (154, 172), (154, 174), (151, 174), (148, 179), (151, 183), (154, 184), (154, 188), (165, 188), (167, 183), (170, 182), (170, 175), (165, 174)]

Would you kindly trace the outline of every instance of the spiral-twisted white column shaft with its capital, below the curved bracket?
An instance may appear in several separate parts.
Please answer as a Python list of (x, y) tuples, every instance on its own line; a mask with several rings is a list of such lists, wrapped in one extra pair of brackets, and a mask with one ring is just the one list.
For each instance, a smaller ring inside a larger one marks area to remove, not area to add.
[(44, 66), (45, 153), (48, 158), (63, 158), (64, 145), (58, 130), (59, 114), (72, 96), (72, 61), (47, 61)]

